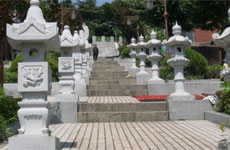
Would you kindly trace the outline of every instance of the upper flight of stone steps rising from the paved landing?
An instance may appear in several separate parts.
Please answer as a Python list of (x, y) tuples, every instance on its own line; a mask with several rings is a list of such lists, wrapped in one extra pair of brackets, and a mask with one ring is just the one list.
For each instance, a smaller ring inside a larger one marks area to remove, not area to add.
[(93, 65), (87, 96), (148, 95), (147, 85), (137, 85), (135, 77), (112, 58), (100, 57)]

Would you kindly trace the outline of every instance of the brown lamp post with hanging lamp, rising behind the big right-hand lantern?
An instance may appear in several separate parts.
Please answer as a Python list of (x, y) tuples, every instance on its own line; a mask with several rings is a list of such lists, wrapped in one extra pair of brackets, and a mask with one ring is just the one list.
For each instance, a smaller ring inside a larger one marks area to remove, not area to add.
[[(167, 12), (167, 0), (160, 0), (164, 5), (164, 20), (165, 20), (165, 37), (168, 40), (169, 34), (168, 34), (168, 12)], [(146, 0), (147, 2), (147, 9), (150, 10), (153, 8), (153, 0)], [(169, 57), (169, 51), (166, 50), (166, 57)]]

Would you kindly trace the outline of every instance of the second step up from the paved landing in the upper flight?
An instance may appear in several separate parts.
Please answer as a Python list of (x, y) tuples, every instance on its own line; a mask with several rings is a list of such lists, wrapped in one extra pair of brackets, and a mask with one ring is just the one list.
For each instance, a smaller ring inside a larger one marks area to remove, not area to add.
[(121, 90), (139, 90), (139, 89), (146, 89), (147, 85), (135, 85), (135, 84), (124, 84), (124, 85), (119, 85), (119, 84), (90, 84), (87, 85), (87, 89), (88, 90), (93, 90), (93, 89), (97, 89), (97, 90), (106, 90), (106, 89), (110, 89), (110, 90), (117, 90), (117, 89), (121, 89)]

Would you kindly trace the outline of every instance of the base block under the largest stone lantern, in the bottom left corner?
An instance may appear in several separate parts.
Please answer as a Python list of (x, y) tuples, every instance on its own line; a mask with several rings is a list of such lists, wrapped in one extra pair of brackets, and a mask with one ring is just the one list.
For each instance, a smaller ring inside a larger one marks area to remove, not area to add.
[(58, 150), (59, 139), (48, 135), (17, 135), (9, 138), (9, 150)]

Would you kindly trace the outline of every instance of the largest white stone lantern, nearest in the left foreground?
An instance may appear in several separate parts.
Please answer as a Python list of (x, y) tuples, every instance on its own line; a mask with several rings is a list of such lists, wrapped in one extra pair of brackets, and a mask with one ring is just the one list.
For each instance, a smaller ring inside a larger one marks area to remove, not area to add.
[(47, 94), (51, 89), (51, 71), (45, 55), (59, 49), (57, 23), (47, 23), (39, 7), (39, 0), (31, 0), (26, 19), (22, 23), (7, 24), (10, 45), (23, 52), (18, 64), (19, 135), (9, 138), (10, 150), (56, 150), (58, 139), (50, 135), (50, 111)]

